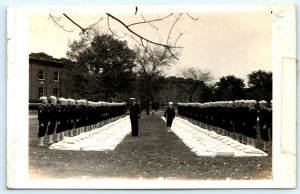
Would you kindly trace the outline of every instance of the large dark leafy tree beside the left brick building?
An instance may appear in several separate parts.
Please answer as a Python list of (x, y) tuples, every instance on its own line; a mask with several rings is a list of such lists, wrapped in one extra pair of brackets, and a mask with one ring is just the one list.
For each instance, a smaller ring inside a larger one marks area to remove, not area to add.
[(136, 55), (126, 41), (108, 34), (96, 34), (83, 36), (69, 46), (67, 56), (77, 64), (72, 69), (74, 91), (84, 92), (93, 100), (105, 101), (115, 97), (116, 93), (132, 92)]

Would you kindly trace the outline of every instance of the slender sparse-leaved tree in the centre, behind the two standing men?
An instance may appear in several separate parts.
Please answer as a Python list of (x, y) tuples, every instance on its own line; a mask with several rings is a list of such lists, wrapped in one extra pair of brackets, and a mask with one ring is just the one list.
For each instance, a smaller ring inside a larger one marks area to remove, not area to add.
[(138, 93), (145, 101), (146, 112), (149, 114), (149, 102), (158, 96), (163, 71), (174, 63), (174, 57), (167, 49), (159, 46), (136, 47), (136, 53)]

